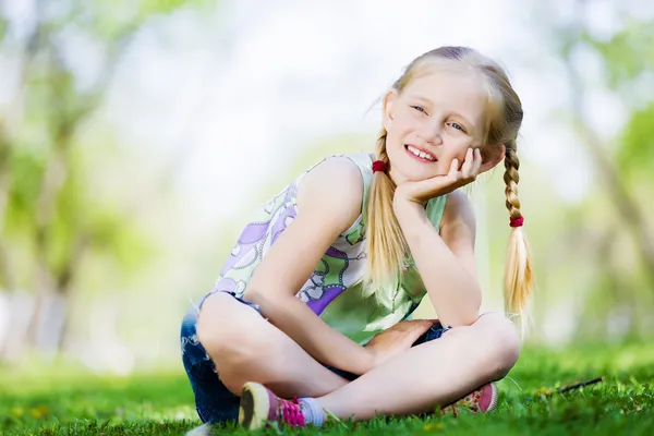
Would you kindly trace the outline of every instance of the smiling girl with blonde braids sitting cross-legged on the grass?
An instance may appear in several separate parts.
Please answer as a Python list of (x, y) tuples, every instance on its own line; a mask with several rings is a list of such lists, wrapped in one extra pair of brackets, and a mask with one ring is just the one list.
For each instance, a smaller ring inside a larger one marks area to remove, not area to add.
[[(521, 314), (532, 288), (521, 121), (493, 61), (463, 47), (416, 58), (384, 96), (375, 154), (329, 157), (267, 203), (184, 317), (202, 421), (322, 425), (463, 397), (492, 410), (492, 382), (518, 360), (519, 338), (504, 316), (479, 314), (475, 223), (459, 189), (504, 159), (513, 228), (505, 303)], [(439, 319), (408, 319), (425, 295)]]

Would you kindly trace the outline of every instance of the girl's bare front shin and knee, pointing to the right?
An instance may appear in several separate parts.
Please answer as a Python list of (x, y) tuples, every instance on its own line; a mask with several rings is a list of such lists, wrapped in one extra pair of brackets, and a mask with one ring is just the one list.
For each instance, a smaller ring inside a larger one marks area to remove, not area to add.
[(317, 401), (341, 419), (425, 412), (504, 377), (518, 354), (513, 325), (499, 314), (485, 314), (472, 326), (414, 347)]

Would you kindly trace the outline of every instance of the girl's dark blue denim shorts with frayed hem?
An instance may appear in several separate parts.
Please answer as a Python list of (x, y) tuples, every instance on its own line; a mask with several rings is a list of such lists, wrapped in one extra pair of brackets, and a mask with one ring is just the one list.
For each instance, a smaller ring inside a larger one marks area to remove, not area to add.
[[(195, 395), (195, 409), (201, 421), (209, 424), (237, 421), (239, 417), (240, 403), (240, 397), (232, 393), (220, 380), (219, 375), (216, 373), (214, 362), (197, 339), (195, 325), (199, 307), (206, 298), (215, 292), (226, 291), (211, 291), (203, 296), (198, 304), (192, 306), (184, 315), (180, 334), (182, 362), (184, 363), (186, 375), (191, 382), (191, 388)], [(253, 307), (261, 314), (259, 307), (256, 304), (249, 303), (235, 296), (232, 292), (227, 293), (231, 294), (243, 304)], [(436, 323), (424, 335), (417, 338), (413, 346), (438, 339), (450, 328), (451, 327), (444, 328), (440, 323)], [(348, 380), (353, 380), (359, 377), (347, 371), (329, 366), (327, 366), (327, 368)]]

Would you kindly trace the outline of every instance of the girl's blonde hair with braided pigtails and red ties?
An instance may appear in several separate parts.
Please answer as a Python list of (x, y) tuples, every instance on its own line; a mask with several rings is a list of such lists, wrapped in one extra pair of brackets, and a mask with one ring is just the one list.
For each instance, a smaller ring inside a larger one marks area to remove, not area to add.
[[(428, 74), (433, 66), (443, 62), (457, 62), (481, 73), (488, 92), (486, 141), (483, 156), (499, 153), (494, 147), (504, 144), (506, 207), (512, 220), (522, 218), (518, 199), (518, 169), (516, 137), (522, 123), (522, 104), (506, 73), (496, 62), (467, 47), (440, 47), (414, 59), (392, 85), (399, 94), (416, 77)], [(386, 130), (377, 138), (376, 158), (391, 162), (386, 152)], [(495, 152), (495, 153), (494, 153)], [(366, 205), (366, 238), (368, 267), (363, 282), (368, 292), (383, 286), (398, 286), (402, 280), (409, 245), (393, 214), (392, 197), (396, 185), (387, 173), (373, 175)], [(512, 227), (509, 238), (505, 270), (505, 312), (510, 317), (521, 317), (525, 312), (533, 288), (532, 261), (529, 243), (521, 227)], [(521, 323), (524, 327), (525, 323)]]

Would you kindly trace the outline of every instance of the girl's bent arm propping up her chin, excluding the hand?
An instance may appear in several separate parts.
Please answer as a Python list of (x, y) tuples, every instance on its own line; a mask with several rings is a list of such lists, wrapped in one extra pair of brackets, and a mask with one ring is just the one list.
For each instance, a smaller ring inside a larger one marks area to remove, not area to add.
[(396, 202), (395, 211), (441, 323), (471, 325), (479, 315), (482, 292), (474, 259), (474, 214), (465, 194), (449, 194), (440, 235), (421, 204)]

